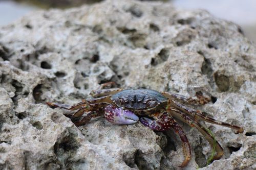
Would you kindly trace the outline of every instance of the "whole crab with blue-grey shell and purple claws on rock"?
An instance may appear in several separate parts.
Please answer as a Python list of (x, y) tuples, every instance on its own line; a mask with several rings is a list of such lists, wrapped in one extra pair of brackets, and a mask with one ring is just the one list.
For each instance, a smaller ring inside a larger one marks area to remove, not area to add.
[(99, 89), (93, 90), (90, 94), (95, 99), (82, 100), (82, 102), (73, 106), (50, 102), (47, 104), (52, 108), (76, 110), (72, 116), (67, 115), (73, 120), (82, 117), (86, 113), (84, 117), (75, 122), (76, 126), (82, 126), (88, 123), (91, 118), (104, 115), (106, 120), (117, 125), (129, 125), (140, 121), (144, 126), (154, 131), (173, 129), (182, 141), (184, 160), (180, 167), (186, 166), (189, 162), (191, 148), (184, 131), (175, 119), (181, 120), (190, 127), (197, 128), (205, 136), (211, 147), (216, 150), (212, 160), (220, 159), (224, 154), (223, 149), (212, 133), (203, 127), (198, 120), (235, 129), (236, 133), (244, 131), (241, 127), (220, 122), (205, 116), (199, 110), (187, 106), (204, 105), (210, 102), (209, 96), (204, 96), (202, 92), (197, 92), (195, 96), (191, 97), (151, 89), (103, 89), (103, 87), (110, 84), (112, 83), (105, 83)]

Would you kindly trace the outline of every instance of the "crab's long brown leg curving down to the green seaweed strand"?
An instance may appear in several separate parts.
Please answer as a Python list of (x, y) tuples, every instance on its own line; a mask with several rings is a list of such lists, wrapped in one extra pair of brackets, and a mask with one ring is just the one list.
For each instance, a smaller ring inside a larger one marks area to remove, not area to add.
[(194, 119), (188, 117), (185, 113), (176, 108), (168, 107), (167, 111), (172, 116), (182, 120), (182, 122), (185, 122), (189, 126), (196, 127), (205, 136), (205, 138), (210, 143), (211, 147), (216, 147), (217, 154), (214, 156), (213, 160), (220, 159), (223, 156), (223, 149), (221, 148), (221, 145), (218, 143), (218, 141), (214, 139), (213, 136), (211, 136), (211, 134), (202, 125), (200, 125)]

